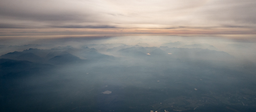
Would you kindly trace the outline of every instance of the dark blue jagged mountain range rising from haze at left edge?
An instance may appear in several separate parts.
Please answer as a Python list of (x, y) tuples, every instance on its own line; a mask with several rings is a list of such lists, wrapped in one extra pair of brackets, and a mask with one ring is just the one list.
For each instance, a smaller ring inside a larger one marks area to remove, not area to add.
[[(85, 48), (83, 50), (87, 52), (97, 51), (94, 48)], [(31, 49), (30, 48), (30, 49), (23, 50), (22, 52), (18, 52), (18, 51), (10, 52), (0, 56), (0, 58), (12, 59), (12, 60), (26, 60), (31, 62), (49, 63), (54, 65), (85, 62), (85, 60), (82, 60), (79, 57), (74, 56), (67, 51), (76, 53), (79, 51), (79, 49), (75, 49), (72, 47), (64, 47), (62, 49), (61, 48), (60, 49)]]

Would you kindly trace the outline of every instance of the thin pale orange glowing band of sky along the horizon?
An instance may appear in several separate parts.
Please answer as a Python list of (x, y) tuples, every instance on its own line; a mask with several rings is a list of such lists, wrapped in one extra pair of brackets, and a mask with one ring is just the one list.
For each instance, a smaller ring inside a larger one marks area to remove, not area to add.
[(39, 29), (1, 29), (0, 37), (43, 36), (43, 35), (170, 35), (170, 34), (256, 34), (256, 29), (246, 28), (177, 28), (177, 29), (121, 29), (121, 28), (39, 28)]

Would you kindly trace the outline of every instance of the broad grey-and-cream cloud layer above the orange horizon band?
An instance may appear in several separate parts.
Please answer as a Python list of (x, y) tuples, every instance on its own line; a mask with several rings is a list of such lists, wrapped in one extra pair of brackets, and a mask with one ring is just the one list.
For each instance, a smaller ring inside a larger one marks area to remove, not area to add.
[(255, 6), (255, 0), (2, 0), (0, 24), (1, 28), (255, 28)]

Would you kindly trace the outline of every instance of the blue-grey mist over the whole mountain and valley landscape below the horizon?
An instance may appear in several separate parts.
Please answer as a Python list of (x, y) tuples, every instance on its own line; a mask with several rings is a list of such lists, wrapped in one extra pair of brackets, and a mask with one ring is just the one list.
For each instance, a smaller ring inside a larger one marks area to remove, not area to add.
[(253, 41), (182, 35), (18, 40), (0, 42), (3, 112), (256, 109)]

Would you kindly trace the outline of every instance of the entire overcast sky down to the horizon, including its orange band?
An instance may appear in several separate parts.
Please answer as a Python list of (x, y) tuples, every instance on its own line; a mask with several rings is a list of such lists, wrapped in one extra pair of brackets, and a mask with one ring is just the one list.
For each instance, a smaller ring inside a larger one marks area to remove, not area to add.
[(0, 0), (0, 36), (256, 34), (255, 0)]

